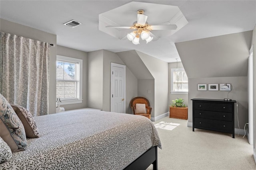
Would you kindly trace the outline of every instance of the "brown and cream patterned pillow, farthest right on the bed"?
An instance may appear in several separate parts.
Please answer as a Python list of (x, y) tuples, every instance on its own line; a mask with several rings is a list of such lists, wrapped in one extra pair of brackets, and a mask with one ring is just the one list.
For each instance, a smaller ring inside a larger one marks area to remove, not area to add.
[(26, 137), (38, 138), (39, 136), (38, 136), (37, 126), (32, 114), (22, 106), (17, 106), (13, 104), (10, 104), (10, 105), (12, 106), (15, 113), (20, 118), (26, 132)]

